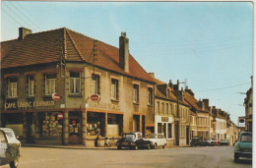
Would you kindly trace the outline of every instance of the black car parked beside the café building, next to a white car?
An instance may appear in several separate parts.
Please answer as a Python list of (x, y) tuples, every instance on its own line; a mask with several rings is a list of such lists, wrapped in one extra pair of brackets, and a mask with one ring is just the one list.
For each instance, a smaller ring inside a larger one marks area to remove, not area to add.
[(123, 134), (120, 140), (117, 140), (116, 146), (118, 149), (122, 147), (128, 147), (130, 149), (138, 149), (138, 148), (150, 148), (150, 141), (144, 140), (142, 138), (142, 133), (134, 132), (134, 133), (125, 133)]

